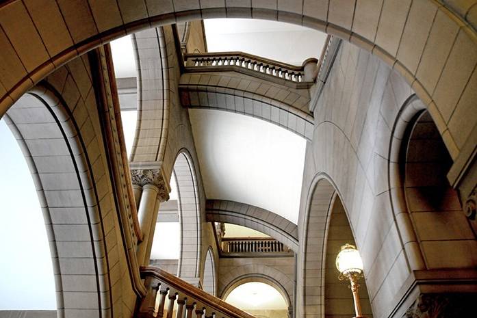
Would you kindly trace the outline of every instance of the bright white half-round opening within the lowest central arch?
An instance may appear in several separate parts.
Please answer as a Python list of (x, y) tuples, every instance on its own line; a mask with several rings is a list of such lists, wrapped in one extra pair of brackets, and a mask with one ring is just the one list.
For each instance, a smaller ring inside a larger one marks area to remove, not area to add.
[(279, 291), (263, 282), (246, 282), (236, 287), (225, 299), (242, 310), (287, 309)]

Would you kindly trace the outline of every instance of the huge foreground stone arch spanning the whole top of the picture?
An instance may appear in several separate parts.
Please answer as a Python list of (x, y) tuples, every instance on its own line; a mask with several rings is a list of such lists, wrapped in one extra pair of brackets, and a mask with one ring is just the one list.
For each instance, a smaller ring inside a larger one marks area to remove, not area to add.
[[(434, 0), (399, 5), (396, 1), (382, 1), (381, 5), (358, 1), (166, 1), (147, 6), (139, 0), (127, 6), (114, 2), (86, 5), (81, 1), (25, 6), (20, 0), (9, 1), (0, 7), (1, 16), (15, 17), (3, 19), (0, 34), (4, 66), (0, 73), (0, 114), (62, 63), (122, 36), (125, 30), (132, 33), (178, 19), (250, 17), (325, 31), (381, 57), (413, 85), (433, 118), (439, 118), (437, 126), (443, 133), (461, 120), (459, 114), (472, 114), (473, 83), (477, 79), (472, 15), (467, 16), (464, 5), (453, 4), (452, 10), (448, 7), (447, 2), (442, 5)], [(476, 121), (463, 131), (449, 129), (444, 142), (453, 158), (459, 155)]]

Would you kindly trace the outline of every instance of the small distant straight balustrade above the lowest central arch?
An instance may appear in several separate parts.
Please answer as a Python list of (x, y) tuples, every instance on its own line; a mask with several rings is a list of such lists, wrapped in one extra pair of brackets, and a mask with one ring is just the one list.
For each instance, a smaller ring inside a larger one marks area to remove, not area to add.
[(226, 253), (289, 252), (283, 243), (271, 237), (222, 238), (222, 251)]

